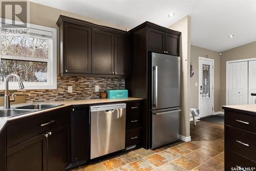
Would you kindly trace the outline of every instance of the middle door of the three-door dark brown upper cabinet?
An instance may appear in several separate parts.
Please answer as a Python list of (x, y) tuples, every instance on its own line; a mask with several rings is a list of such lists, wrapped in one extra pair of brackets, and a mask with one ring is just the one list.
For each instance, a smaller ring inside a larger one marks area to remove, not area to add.
[(92, 74), (114, 72), (114, 34), (102, 30), (92, 31)]

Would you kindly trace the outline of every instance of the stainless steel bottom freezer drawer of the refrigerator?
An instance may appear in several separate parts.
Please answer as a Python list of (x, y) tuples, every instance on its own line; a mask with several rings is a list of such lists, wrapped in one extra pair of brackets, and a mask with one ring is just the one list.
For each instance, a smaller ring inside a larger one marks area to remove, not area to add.
[(180, 111), (152, 111), (152, 149), (179, 140)]

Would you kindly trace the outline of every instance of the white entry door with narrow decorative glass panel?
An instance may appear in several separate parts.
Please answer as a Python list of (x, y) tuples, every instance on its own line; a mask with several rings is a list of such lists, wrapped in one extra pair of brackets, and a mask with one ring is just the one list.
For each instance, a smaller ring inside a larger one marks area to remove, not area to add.
[(200, 117), (214, 111), (214, 60), (199, 58), (199, 113)]

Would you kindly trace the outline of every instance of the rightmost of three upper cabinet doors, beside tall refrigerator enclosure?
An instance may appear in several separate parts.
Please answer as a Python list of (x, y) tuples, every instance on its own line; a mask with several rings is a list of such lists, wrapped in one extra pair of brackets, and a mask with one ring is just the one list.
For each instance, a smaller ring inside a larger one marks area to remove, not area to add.
[(130, 75), (133, 55), (132, 37), (115, 34), (115, 74)]

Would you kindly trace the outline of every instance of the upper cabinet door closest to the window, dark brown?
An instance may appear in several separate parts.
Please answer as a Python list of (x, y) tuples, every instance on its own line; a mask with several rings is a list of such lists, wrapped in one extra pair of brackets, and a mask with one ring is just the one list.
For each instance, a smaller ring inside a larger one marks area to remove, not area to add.
[(64, 23), (64, 72), (91, 74), (92, 29)]

